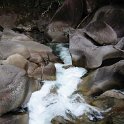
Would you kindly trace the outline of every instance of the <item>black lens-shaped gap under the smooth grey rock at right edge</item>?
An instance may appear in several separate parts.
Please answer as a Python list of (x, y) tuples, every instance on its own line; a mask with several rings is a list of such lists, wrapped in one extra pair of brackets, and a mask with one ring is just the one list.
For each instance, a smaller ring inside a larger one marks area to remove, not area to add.
[(124, 58), (111, 58), (111, 59), (106, 59), (102, 62), (102, 65), (100, 67), (103, 67), (103, 66), (111, 66), (117, 62), (119, 62), (120, 60), (124, 60)]

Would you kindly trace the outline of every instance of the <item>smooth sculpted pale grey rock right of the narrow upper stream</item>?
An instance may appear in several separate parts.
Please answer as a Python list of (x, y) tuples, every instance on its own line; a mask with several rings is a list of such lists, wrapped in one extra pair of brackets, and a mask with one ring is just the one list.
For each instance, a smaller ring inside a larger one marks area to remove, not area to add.
[[(79, 30), (70, 34), (69, 49), (73, 65), (93, 69), (100, 67), (104, 60), (124, 58), (121, 50), (114, 48), (113, 45), (97, 46), (84, 32)], [(122, 49), (121, 46), (118, 47)]]

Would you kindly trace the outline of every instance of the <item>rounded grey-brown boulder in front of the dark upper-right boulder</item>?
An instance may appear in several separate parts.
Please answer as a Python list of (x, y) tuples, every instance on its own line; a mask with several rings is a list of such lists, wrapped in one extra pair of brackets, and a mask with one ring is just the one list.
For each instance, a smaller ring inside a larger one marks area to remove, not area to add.
[(116, 44), (116, 32), (105, 22), (95, 21), (88, 24), (85, 33), (99, 45)]

